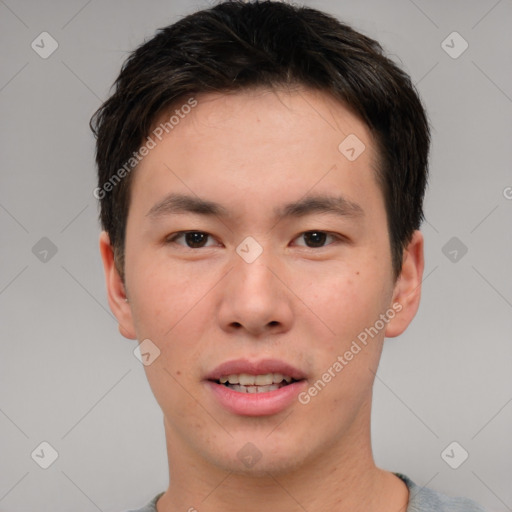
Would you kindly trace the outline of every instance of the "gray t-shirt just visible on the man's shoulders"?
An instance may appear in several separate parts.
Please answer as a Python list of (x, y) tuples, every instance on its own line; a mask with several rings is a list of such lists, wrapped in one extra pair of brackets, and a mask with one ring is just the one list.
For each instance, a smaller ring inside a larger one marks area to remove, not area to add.
[[(405, 475), (395, 473), (409, 488), (407, 512), (485, 512), (478, 503), (468, 498), (450, 498), (427, 487), (416, 485)], [(163, 492), (157, 494), (145, 507), (128, 512), (157, 512), (156, 502)]]

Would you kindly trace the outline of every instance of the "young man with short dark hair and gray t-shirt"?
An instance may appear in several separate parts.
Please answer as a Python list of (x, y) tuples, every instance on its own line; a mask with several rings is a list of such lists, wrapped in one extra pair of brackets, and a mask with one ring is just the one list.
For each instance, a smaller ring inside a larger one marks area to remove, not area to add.
[(418, 309), (430, 134), (319, 11), (228, 1), (138, 48), (92, 120), (108, 300), (162, 408), (143, 511), (481, 511), (376, 467), (372, 385)]

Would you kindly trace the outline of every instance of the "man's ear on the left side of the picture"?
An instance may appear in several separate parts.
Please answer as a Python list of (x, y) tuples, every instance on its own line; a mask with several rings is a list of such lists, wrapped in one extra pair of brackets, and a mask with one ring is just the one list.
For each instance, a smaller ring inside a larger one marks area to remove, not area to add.
[(100, 253), (105, 271), (108, 304), (119, 322), (119, 332), (125, 338), (135, 340), (137, 336), (133, 326), (132, 309), (126, 300), (125, 286), (114, 263), (114, 250), (106, 231), (100, 235)]

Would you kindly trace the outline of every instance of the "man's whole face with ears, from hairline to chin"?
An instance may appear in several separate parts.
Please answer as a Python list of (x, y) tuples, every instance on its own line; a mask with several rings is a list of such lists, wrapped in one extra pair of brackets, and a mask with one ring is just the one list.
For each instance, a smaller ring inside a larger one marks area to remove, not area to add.
[(383, 339), (423, 269), (415, 234), (393, 279), (369, 130), (325, 94), (255, 90), (198, 96), (155, 140), (125, 287), (106, 235), (102, 252), (121, 332), (160, 351), (145, 371), (176, 458), (284, 471), (369, 442)]

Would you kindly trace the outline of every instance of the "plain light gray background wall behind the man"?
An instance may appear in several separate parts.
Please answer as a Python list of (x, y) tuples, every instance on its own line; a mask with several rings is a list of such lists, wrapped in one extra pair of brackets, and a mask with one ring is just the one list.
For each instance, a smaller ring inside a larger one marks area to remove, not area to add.
[[(377, 463), (512, 510), (512, 2), (305, 3), (379, 40), (433, 127), (422, 306), (386, 342)], [(129, 51), (206, 5), (0, 0), (1, 511), (119, 511), (166, 488), (161, 412), (106, 301), (88, 121)], [(31, 48), (43, 31), (47, 59)]]

